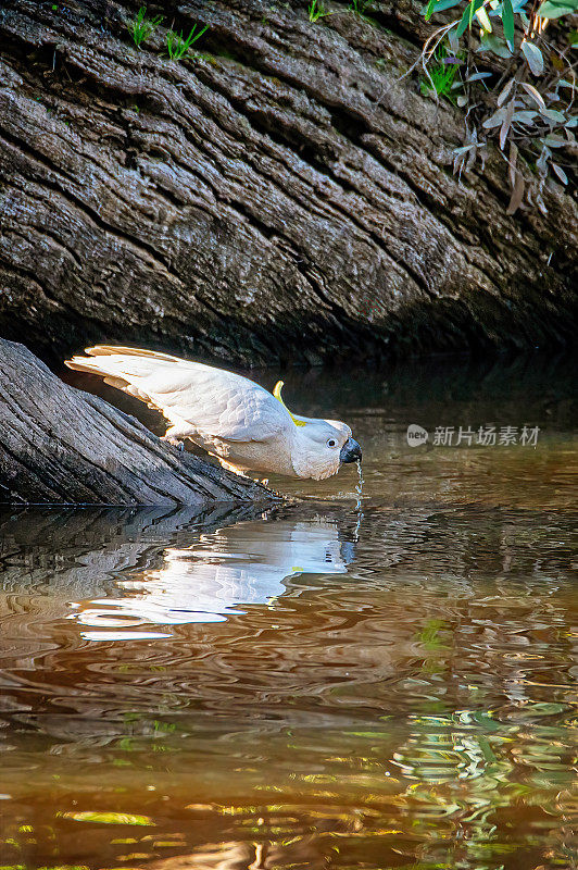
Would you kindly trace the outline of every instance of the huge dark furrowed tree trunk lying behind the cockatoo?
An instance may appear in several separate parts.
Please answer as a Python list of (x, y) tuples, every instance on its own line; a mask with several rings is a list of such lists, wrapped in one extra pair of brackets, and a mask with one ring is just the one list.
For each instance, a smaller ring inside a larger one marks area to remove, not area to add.
[(139, 5), (4, 0), (3, 335), (238, 364), (571, 340), (576, 204), (506, 215), (495, 151), (452, 174), (463, 112), (401, 78), (423, 0), (150, 3), (137, 50)]

